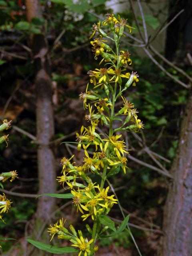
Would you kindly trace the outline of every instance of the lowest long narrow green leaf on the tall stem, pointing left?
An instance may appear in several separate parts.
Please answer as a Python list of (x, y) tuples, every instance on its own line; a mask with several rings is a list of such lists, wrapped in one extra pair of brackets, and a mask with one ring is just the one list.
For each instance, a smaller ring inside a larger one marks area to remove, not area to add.
[(70, 253), (70, 252), (78, 252), (78, 250), (75, 250), (72, 247), (58, 247), (58, 246), (52, 246), (50, 244), (44, 244), (42, 242), (34, 241), (31, 239), (27, 239), (27, 242), (34, 245), (35, 247), (44, 250), (46, 252), (51, 252), (55, 254), (63, 254), (63, 253)]

